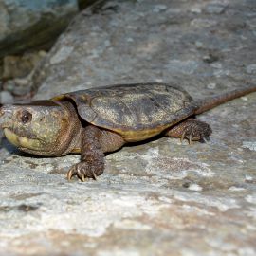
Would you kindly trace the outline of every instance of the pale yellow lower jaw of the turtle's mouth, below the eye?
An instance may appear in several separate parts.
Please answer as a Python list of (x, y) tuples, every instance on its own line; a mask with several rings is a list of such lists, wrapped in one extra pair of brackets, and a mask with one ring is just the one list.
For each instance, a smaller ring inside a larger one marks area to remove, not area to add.
[(31, 150), (40, 150), (42, 148), (39, 139), (18, 136), (9, 128), (4, 129), (4, 134), (8, 138), (9, 142), (18, 148), (26, 148)]

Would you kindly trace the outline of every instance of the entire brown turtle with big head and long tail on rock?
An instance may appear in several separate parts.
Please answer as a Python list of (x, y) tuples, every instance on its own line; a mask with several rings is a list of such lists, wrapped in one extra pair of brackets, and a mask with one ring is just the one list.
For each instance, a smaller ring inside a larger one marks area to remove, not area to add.
[(81, 154), (67, 172), (82, 181), (104, 171), (104, 155), (126, 143), (156, 136), (207, 142), (212, 130), (195, 119), (211, 108), (255, 92), (256, 86), (204, 100), (168, 83), (133, 83), (95, 87), (53, 97), (2, 105), (0, 127), (9, 142), (32, 155)]

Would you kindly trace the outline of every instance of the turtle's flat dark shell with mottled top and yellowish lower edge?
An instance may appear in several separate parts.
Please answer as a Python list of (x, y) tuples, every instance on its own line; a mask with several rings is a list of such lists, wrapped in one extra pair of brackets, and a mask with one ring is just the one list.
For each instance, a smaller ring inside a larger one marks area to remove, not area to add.
[(164, 83), (96, 87), (51, 100), (74, 101), (82, 119), (114, 131), (126, 141), (154, 137), (195, 109), (186, 91)]

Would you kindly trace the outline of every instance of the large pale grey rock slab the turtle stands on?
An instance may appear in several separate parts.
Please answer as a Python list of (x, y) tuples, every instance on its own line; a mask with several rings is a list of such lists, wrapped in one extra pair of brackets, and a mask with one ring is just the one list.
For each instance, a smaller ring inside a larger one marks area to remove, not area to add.
[[(37, 99), (119, 82), (175, 82), (202, 98), (255, 82), (255, 1), (111, 1), (82, 12), (36, 70)], [(209, 144), (162, 137), (67, 182), (79, 155), (2, 139), (4, 255), (255, 255), (256, 94), (198, 119)]]

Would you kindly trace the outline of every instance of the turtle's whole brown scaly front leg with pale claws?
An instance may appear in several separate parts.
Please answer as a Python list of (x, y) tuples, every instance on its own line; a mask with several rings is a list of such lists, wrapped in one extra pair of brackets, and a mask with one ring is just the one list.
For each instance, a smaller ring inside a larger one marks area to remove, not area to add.
[(82, 181), (85, 178), (96, 179), (104, 171), (104, 152), (101, 149), (101, 129), (89, 125), (82, 131), (81, 162), (74, 165), (67, 173), (70, 180), (73, 175), (78, 175)]

